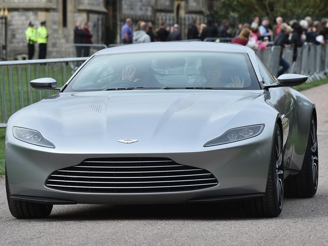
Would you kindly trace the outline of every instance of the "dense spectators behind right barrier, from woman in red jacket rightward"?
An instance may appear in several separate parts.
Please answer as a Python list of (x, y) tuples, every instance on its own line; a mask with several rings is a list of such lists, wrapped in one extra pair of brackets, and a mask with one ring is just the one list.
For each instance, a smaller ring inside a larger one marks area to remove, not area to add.
[(254, 17), (251, 24), (239, 24), (236, 37), (232, 43), (247, 45), (254, 50), (264, 50), (268, 44), (282, 47), (280, 52), (279, 65), (282, 67), (278, 71), (278, 76), (284, 74), (291, 66), (283, 58), (283, 50), (286, 45), (293, 47), (293, 63), (297, 59), (297, 49), (302, 47), (304, 42), (324, 45), (328, 39), (328, 18), (321, 21), (313, 21), (310, 16), (303, 20), (291, 20), (288, 23), (280, 16), (275, 18), (275, 24), (270, 25), (267, 17)]

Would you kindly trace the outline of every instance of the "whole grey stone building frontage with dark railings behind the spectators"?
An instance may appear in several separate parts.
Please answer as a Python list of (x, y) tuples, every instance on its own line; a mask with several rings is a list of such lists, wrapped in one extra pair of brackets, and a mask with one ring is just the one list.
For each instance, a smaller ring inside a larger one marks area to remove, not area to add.
[[(27, 54), (25, 30), (33, 21), (35, 28), (45, 20), (49, 32), (48, 58), (75, 56), (73, 30), (75, 22), (88, 21), (93, 43), (120, 43), (121, 27), (126, 18), (177, 23), (182, 38), (192, 19), (206, 22), (213, 0), (1, 0), (0, 9), (8, 9), (7, 59), (21, 59)], [(0, 33), (0, 35), (4, 35)], [(37, 45), (34, 59), (37, 58)]]

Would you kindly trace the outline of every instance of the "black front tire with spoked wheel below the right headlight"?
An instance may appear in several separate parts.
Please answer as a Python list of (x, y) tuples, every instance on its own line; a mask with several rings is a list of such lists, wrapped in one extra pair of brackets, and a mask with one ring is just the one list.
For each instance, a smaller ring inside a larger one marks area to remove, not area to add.
[(283, 135), (279, 125), (275, 124), (264, 198), (245, 201), (243, 208), (246, 216), (277, 217), (282, 212), (284, 200), (283, 160)]

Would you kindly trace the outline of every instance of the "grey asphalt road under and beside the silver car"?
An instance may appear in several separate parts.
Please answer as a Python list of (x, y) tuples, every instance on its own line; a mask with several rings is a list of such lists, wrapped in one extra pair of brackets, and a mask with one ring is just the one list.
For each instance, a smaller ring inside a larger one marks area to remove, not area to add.
[(319, 188), (311, 199), (285, 199), (278, 218), (246, 218), (230, 205), (67, 205), (17, 220), (0, 179), (0, 244), (328, 245), (328, 84), (303, 93), (317, 105)]

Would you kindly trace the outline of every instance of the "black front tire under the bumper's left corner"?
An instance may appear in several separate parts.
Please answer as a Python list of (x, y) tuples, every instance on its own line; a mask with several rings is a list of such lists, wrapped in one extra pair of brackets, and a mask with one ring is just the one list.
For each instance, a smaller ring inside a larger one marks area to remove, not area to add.
[(17, 219), (39, 219), (50, 215), (53, 205), (44, 205), (31, 202), (17, 201), (10, 198), (6, 170), (6, 192), (10, 213)]

